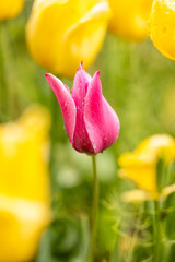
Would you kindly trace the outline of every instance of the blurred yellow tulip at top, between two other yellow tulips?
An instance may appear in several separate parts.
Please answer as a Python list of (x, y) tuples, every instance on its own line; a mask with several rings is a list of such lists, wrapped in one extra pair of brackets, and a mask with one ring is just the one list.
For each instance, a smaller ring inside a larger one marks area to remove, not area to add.
[(141, 41), (147, 38), (152, 1), (109, 0), (114, 13), (109, 21), (110, 32), (132, 41)]

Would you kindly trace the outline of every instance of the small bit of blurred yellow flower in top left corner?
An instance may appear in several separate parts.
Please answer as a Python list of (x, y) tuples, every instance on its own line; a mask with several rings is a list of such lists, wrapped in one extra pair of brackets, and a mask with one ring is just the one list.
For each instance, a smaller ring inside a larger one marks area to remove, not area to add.
[(16, 16), (24, 5), (24, 0), (1, 0), (0, 21)]

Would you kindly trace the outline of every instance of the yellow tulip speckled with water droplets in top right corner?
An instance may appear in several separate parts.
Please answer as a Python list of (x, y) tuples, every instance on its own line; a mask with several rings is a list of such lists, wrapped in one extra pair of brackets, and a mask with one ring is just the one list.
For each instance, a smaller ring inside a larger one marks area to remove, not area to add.
[(154, 0), (150, 15), (150, 37), (167, 58), (175, 60), (175, 2)]

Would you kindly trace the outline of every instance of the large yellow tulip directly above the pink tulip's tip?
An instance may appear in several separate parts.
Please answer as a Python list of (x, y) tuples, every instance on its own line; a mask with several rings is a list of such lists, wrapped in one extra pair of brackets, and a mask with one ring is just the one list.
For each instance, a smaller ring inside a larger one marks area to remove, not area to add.
[(26, 27), (33, 58), (54, 73), (72, 78), (101, 50), (110, 10), (107, 0), (35, 0)]

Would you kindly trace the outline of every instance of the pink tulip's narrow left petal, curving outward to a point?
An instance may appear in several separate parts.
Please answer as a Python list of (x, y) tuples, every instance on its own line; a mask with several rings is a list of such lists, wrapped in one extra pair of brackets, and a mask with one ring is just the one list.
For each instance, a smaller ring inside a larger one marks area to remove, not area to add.
[(68, 87), (66, 87), (59, 79), (57, 79), (52, 74), (46, 74), (45, 76), (60, 105), (63, 116), (65, 128), (71, 142), (73, 140), (77, 116), (74, 100), (72, 99), (71, 94), (68, 91)]

